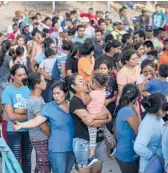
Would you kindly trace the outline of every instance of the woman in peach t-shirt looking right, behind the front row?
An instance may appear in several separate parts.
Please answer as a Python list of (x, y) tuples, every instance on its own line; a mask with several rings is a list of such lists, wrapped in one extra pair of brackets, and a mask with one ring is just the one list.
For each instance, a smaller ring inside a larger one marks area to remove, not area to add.
[(122, 88), (127, 83), (135, 83), (140, 76), (140, 66), (137, 65), (138, 57), (133, 49), (128, 49), (123, 54), (124, 66), (117, 74), (118, 92), (121, 96)]

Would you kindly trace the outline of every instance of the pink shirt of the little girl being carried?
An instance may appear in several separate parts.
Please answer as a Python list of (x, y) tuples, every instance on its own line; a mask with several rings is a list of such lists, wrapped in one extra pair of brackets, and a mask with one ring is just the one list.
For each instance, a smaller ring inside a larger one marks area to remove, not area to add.
[(89, 113), (99, 113), (102, 111), (105, 102), (105, 90), (93, 90), (90, 92), (91, 102), (87, 105)]

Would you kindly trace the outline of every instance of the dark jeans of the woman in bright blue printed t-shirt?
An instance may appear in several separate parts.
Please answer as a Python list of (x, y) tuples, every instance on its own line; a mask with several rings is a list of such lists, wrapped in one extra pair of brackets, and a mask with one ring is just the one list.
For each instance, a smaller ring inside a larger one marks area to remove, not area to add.
[(7, 132), (8, 145), (18, 162), (21, 161), (23, 173), (31, 173), (32, 145), (28, 132)]

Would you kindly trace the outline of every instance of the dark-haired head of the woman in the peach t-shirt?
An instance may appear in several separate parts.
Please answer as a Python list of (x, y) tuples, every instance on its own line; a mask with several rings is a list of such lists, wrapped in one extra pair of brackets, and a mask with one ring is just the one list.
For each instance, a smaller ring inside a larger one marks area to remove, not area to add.
[(129, 67), (134, 68), (137, 65), (138, 62), (138, 56), (135, 52), (135, 50), (133, 49), (127, 49), (124, 53), (123, 53), (123, 64), (127, 65)]

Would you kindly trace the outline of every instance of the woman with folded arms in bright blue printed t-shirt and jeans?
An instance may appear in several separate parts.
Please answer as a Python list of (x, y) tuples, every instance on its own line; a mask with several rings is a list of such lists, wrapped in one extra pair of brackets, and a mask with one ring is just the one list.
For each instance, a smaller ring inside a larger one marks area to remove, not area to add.
[[(27, 102), (30, 96), (30, 90), (27, 86), (24, 86), (27, 83), (26, 78), (25, 66), (15, 64), (11, 68), (12, 83), (2, 93), (2, 104), (9, 119), (7, 124), (8, 145), (16, 159), (21, 161), (23, 172), (31, 173), (32, 145), (28, 130), (21, 129), (14, 131), (12, 129), (12, 123), (27, 119)], [(20, 153), (20, 151), (22, 152)]]

